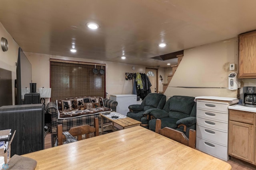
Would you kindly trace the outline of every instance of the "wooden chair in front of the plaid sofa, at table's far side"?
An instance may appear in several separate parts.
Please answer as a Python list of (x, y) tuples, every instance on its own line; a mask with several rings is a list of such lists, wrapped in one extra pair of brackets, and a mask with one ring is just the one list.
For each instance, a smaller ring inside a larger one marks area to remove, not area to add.
[[(98, 117), (94, 118), (94, 127), (90, 125), (82, 125), (72, 127), (68, 131), (73, 137), (77, 136), (78, 141), (82, 140), (82, 135), (86, 135), (86, 139), (90, 138), (90, 133), (94, 133), (94, 136), (99, 135), (99, 120)], [(66, 139), (65, 135), (62, 134), (62, 124), (58, 125), (58, 146), (63, 144), (63, 140)]]

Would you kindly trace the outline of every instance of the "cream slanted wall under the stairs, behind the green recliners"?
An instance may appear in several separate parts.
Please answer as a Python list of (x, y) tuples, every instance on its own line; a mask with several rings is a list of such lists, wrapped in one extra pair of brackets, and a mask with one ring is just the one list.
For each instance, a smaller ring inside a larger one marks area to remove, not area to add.
[(237, 97), (237, 90), (228, 90), (229, 64), (238, 63), (237, 38), (184, 50), (166, 92), (167, 97), (220, 96)]

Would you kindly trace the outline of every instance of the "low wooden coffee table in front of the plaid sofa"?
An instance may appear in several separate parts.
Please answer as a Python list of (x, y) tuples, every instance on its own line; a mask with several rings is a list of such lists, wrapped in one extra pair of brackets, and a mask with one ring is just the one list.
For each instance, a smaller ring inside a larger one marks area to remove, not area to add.
[(140, 121), (137, 121), (135, 119), (132, 119), (130, 117), (126, 117), (123, 119), (111, 119), (109, 117), (107, 117), (106, 115), (100, 113), (101, 115), (101, 132), (103, 131), (103, 117), (110, 120), (112, 123), (109, 125), (112, 125), (112, 129), (114, 129), (114, 123), (120, 125), (123, 129), (128, 128), (128, 127), (133, 127), (133, 126), (138, 126), (140, 125)]

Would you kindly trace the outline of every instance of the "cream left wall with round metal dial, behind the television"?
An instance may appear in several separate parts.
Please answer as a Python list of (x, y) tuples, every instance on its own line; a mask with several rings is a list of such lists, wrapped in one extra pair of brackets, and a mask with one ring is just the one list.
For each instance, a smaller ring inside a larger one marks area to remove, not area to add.
[(16, 79), (16, 62), (18, 59), (19, 45), (14, 41), (12, 36), (6, 31), (0, 23), (0, 39), (4, 37), (8, 41), (8, 51), (3, 52), (0, 48), (0, 68), (12, 72), (12, 104), (15, 104), (14, 98), (14, 80)]

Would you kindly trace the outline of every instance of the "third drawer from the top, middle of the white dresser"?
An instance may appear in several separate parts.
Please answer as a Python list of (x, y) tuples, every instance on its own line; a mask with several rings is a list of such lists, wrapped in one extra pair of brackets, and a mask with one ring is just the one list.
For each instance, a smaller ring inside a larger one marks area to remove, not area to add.
[(228, 132), (228, 122), (223, 123), (219, 121), (214, 121), (210, 119), (204, 119), (201, 117), (196, 117), (196, 125), (202, 125), (204, 127), (208, 127), (210, 129), (222, 130)]

